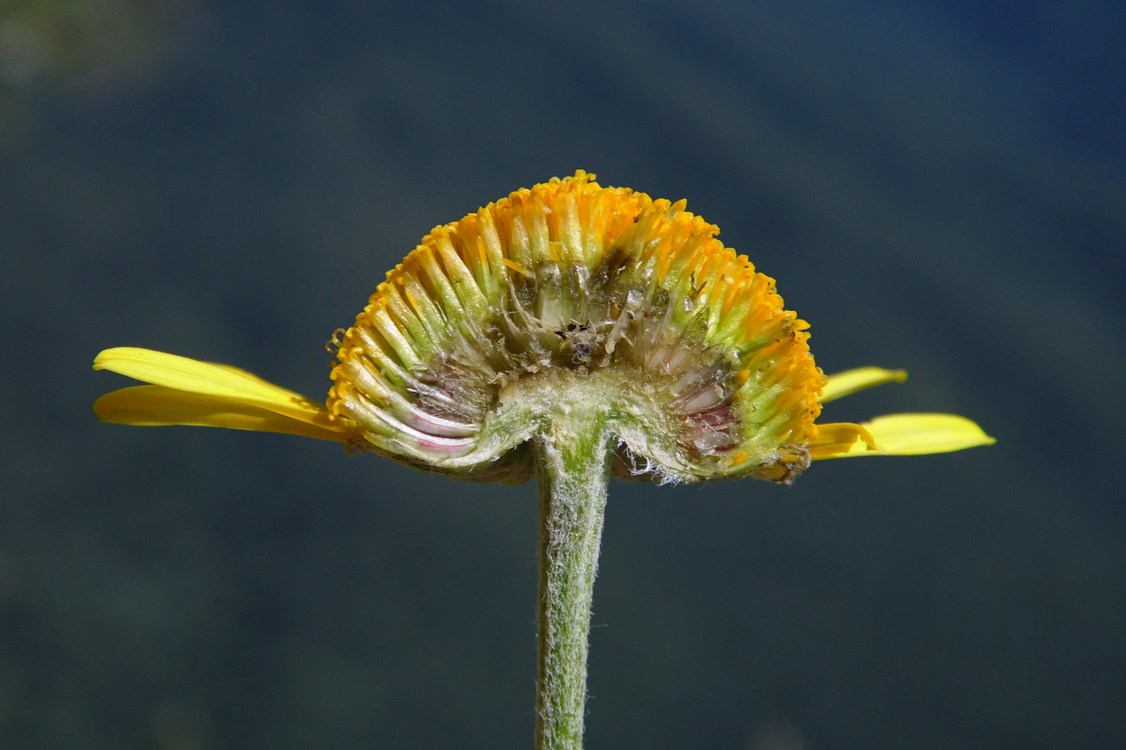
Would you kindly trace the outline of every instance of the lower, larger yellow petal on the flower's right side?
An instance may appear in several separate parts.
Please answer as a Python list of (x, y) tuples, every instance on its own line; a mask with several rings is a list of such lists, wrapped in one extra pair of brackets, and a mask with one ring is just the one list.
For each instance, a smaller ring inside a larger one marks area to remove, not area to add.
[(813, 458), (918, 456), (997, 443), (981, 427), (955, 414), (888, 414), (863, 425), (819, 425)]

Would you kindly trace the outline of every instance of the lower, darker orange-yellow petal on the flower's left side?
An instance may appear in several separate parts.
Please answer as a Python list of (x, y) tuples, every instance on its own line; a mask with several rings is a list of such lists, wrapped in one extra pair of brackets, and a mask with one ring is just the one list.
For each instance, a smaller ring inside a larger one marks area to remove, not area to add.
[(293, 419), (239, 399), (176, 391), (162, 385), (136, 385), (113, 391), (93, 402), (93, 413), (116, 425), (189, 425), (234, 430), (283, 432), (320, 440), (346, 440), (349, 434), (329, 419), (319, 423)]

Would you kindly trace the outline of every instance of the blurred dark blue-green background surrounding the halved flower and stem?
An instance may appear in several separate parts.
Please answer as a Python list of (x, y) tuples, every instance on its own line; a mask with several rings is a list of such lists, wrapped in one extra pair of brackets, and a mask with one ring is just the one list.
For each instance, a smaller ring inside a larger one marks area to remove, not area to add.
[[(408, 8), (406, 6), (410, 5)], [(0, 1), (0, 748), (530, 747), (535, 491), (99, 426), (328, 389), (419, 238), (577, 168), (778, 279), (826, 418), (997, 446), (611, 488), (591, 748), (1126, 747), (1126, 10)]]

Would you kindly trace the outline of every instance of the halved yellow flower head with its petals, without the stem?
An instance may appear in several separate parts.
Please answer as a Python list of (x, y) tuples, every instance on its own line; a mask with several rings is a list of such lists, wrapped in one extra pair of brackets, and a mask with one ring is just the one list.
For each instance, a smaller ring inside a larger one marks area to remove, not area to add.
[(819, 423), (821, 405), (902, 381), (826, 378), (774, 279), (685, 203), (578, 172), (436, 227), (334, 339), (325, 407), (241, 369), (146, 349), (98, 355), (151, 385), (99, 399), (105, 421), (339, 440), (434, 471), (508, 481), (552, 410), (599, 404), (622, 475), (790, 481), (812, 459), (989, 445), (972, 421)]

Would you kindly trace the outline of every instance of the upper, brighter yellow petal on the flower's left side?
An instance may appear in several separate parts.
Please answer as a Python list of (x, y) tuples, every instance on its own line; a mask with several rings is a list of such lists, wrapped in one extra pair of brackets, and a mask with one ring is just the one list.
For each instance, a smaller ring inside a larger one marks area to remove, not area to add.
[(93, 360), (95, 369), (108, 369), (143, 383), (172, 391), (218, 396), (227, 402), (257, 405), (297, 421), (320, 425), (327, 412), (300, 393), (274, 385), (230, 365), (189, 359), (152, 349), (117, 347), (106, 349)]

